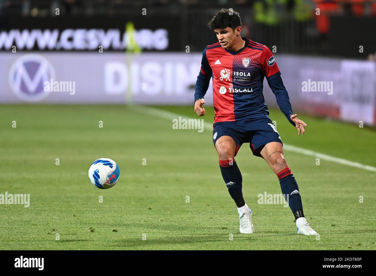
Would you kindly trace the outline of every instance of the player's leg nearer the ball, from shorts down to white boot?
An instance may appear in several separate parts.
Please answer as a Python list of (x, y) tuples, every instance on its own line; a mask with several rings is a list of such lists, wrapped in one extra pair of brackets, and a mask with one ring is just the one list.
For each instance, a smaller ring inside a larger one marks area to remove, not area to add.
[(219, 165), (223, 180), (226, 183), (230, 196), (238, 207), (240, 220), (239, 231), (243, 234), (251, 234), (253, 233), (252, 212), (243, 198), (243, 179), (234, 158), (236, 143), (230, 136), (221, 136), (215, 142), (215, 148), (218, 152)]

